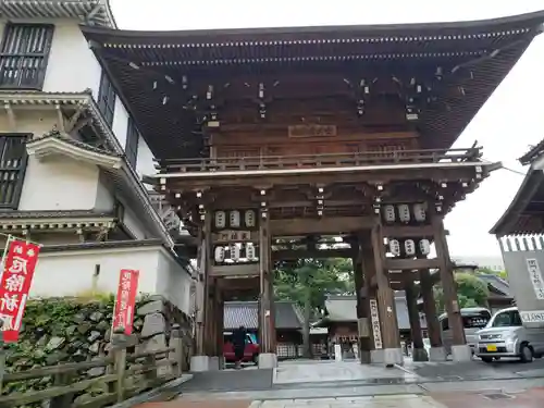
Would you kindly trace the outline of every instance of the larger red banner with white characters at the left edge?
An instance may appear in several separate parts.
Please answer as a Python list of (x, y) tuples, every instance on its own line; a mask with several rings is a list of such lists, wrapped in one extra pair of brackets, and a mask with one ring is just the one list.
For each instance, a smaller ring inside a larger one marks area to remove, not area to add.
[(38, 261), (39, 245), (11, 240), (0, 280), (0, 319), (5, 343), (16, 342)]

